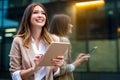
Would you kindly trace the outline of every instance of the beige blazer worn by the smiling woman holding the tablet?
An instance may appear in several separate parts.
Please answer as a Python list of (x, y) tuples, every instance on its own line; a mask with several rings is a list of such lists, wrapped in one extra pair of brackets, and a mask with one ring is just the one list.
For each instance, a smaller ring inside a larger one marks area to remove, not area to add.
[[(23, 47), (22, 38), (15, 37), (10, 50), (10, 68), (13, 73), (17, 70), (24, 70), (34, 66), (33, 58), (35, 56), (31, 44)], [(26, 80), (34, 80), (34, 75)], [(46, 76), (44, 80), (53, 80), (53, 70), (51, 67), (46, 67)]]

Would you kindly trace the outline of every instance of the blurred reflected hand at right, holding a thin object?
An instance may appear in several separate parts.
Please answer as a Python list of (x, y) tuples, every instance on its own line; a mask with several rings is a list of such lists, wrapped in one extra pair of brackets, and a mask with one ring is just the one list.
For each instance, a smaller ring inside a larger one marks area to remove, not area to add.
[(80, 64), (85, 63), (86, 61), (88, 61), (90, 55), (89, 54), (85, 54), (85, 53), (80, 53), (76, 60), (73, 62), (73, 65), (75, 67), (79, 66)]

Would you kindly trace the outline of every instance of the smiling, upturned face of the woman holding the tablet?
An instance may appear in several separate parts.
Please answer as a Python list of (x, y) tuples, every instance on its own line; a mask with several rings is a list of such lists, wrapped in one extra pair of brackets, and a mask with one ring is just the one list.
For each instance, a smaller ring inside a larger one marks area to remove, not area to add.
[(35, 27), (43, 27), (46, 22), (45, 11), (40, 6), (35, 6), (31, 15), (31, 25)]

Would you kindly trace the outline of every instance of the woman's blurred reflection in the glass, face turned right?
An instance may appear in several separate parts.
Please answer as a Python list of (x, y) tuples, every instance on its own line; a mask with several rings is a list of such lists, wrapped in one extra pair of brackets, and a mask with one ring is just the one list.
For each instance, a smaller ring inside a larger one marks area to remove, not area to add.
[[(50, 33), (59, 36), (60, 42), (68, 42), (68, 35), (72, 33), (71, 18), (65, 14), (56, 14), (52, 17), (50, 23)], [(74, 80), (72, 72), (75, 68), (82, 63), (86, 62), (90, 56), (81, 53), (77, 56), (76, 60), (71, 63), (71, 48), (65, 53), (65, 65), (60, 68), (60, 76), (56, 80)]]

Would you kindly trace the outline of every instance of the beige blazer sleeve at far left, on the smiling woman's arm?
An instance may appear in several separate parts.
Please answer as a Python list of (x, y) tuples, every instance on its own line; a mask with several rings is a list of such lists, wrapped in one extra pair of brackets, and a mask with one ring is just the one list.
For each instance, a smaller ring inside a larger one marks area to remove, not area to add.
[(21, 61), (21, 51), (20, 51), (20, 44), (18, 38), (14, 38), (12, 42), (9, 57), (10, 57), (9, 71), (13, 73), (14, 71), (21, 70), (22, 61)]

